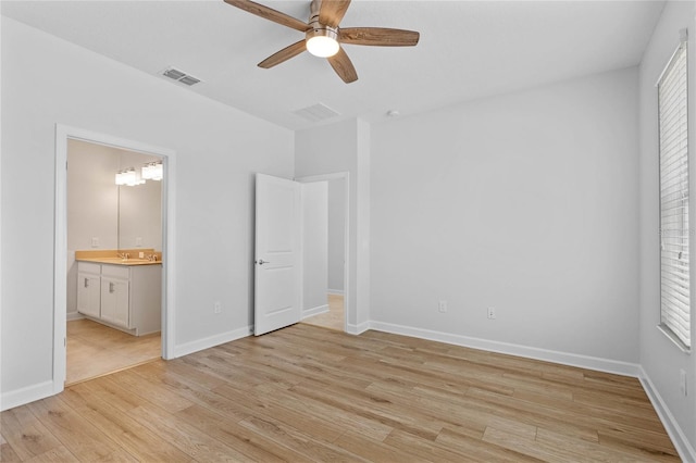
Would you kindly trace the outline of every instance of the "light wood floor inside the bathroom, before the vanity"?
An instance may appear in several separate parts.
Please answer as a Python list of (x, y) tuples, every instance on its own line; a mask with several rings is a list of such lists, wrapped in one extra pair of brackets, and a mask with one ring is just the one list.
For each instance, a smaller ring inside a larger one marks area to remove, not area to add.
[(86, 318), (67, 322), (66, 385), (161, 356), (159, 333), (138, 337)]

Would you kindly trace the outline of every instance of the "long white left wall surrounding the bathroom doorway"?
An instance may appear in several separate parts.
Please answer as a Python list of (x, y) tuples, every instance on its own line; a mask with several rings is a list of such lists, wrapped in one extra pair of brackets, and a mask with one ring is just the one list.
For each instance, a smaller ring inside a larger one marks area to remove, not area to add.
[(293, 176), (293, 133), (7, 17), (1, 82), (3, 403), (52, 379), (55, 123), (176, 152), (174, 353), (247, 334), (253, 173)]

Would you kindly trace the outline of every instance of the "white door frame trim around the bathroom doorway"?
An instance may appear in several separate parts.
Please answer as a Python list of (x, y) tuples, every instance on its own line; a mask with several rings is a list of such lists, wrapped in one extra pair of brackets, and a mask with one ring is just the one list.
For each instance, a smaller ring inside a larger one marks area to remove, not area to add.
[(162, 158), (162, 358), (174, 355), (176, 152), (140, 141), (55, 124), (55, 205), (53, 245), (53, 393), (64, 389), (67, 323), (67, 140), (137, 151)]

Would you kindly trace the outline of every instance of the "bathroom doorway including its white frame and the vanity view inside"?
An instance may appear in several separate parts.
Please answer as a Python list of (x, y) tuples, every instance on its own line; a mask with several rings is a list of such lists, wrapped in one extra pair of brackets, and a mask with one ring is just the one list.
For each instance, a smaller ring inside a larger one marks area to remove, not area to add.
[[(175, 159), (169, 149), (63, 125), (57, 125), (55, 141), (53, 391), (60, 392), (66, 384), (169, 359), (173, 352)], [(80, 160), (88, 165), (80, 166)], [(161, 182), (140, 190), (145, 184), (116, 186), (120, 171), (159, 162)], [(73, 185), (80, 171), (87, 183)], [(147, 189), (150, 195), (138, 196)], [(84, 273), (78, 263), (88, 264)], [(148, 308), (147, 316), (133, 312), (142, 288), (149, 296), (139, 303)], [(78, 309), (78, 290), (83, 296), (91, 291), (91, 299), (82, 300), (92, 305), (96, 300), (101, 312), (95, 314), (85, 302)], [(125, 322), (119, 318), (124, 313)]]

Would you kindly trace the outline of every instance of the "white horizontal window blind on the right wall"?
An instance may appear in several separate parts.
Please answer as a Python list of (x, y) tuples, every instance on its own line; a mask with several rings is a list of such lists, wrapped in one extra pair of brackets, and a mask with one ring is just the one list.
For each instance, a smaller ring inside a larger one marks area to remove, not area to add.
[(686, 41), (658, 82), (660, 139), (660, 326), (691, 347)]

